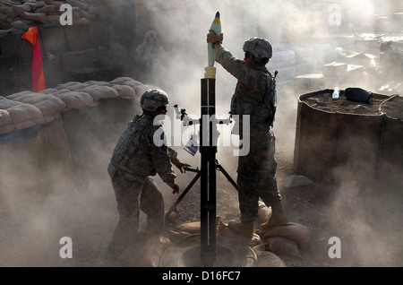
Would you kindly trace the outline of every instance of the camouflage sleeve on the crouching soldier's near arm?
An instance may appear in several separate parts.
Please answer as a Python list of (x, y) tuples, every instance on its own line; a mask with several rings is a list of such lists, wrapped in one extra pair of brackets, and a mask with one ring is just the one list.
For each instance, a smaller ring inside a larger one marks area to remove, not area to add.
[(150, 154), (152, 165), (154, 166), (156, 172), (161, 177), (162, 181), (167, 183), (168, 186), (174, 186), (176, 174), (174, 169), (172, 168), (171, 159), (169, 157), (167, 143), (165, 143), (165, 139), (162, 141), (156, 142), (154, 140), (154, 134), (159, 135), (160, 138), (164, 137), (164, 132), (159, 125), (153, 125), (149, 128), (149, 138), (151, 140), (150, 143)]

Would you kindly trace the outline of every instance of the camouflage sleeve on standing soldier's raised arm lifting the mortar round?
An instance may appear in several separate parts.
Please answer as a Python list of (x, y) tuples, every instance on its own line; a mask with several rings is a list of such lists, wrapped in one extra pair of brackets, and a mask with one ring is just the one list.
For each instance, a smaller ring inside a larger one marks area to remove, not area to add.
[(247, 66), (243, 60), (231, 55), (227, 48), (219, 48), (216, 54), (216, 61), (231, 73), (239, 82), (247, 84)]

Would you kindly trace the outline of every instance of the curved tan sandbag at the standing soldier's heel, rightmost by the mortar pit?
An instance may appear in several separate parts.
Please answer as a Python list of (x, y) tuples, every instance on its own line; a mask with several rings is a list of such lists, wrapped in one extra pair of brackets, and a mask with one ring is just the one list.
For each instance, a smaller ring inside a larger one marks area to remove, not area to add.
[(311, 229), (296, 222), (288, 222), (285, 226), (269, 229), (263, 234), (263, 239), (272, 237), (291, 239), (299, 248), (305, 249), (309, 246)]

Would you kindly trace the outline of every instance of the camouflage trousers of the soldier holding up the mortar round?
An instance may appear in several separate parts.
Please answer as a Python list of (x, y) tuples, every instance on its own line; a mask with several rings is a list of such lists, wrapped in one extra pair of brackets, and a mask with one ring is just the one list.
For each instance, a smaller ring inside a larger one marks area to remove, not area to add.
[(259, 197), (270, 206), (281, 201), (276, 181), (277, 161), (274, 158), (276, 138), (271, 132), (250, 138), (250, 151), (238, 161), (237, 184), (241, 220), (258, 217)]

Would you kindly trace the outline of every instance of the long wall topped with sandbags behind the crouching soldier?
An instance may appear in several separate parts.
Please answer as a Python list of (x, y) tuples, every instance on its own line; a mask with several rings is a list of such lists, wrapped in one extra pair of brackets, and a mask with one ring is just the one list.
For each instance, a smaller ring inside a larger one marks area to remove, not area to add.
[(0, 208), (47, 194), (64, 177), (100, 168), (105, 176), (118, 136), (151, 87), (120, 77), (0, 97)]

